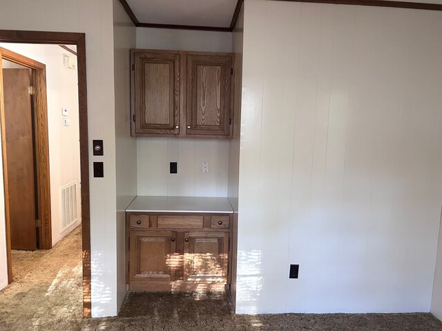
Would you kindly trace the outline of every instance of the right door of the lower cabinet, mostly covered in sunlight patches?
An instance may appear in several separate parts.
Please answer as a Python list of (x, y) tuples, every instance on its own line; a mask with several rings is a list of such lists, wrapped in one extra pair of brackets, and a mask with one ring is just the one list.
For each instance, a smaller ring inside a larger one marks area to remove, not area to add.
[(227, 282), (229, 234), (184, 233), (184, 280)]

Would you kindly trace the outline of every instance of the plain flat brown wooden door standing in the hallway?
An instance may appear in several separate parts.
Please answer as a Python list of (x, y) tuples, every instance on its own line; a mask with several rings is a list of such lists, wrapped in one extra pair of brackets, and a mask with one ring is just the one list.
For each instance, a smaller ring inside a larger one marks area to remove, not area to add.
[(36, 250), (36, 206), (30, 69), (3, 69), (10, 241), (13, 250)]

